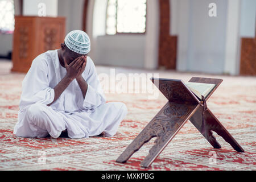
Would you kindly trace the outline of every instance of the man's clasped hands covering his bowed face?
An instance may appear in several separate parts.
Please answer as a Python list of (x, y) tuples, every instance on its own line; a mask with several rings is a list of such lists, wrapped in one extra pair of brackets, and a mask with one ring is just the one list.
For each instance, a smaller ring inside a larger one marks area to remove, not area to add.
[(85, 70), (87, 56), (77, 57), (69, 65), (64, 59), (65, 68), (67, 70), (67, 76), (72, 80), (82, 78), (82, 72)]

